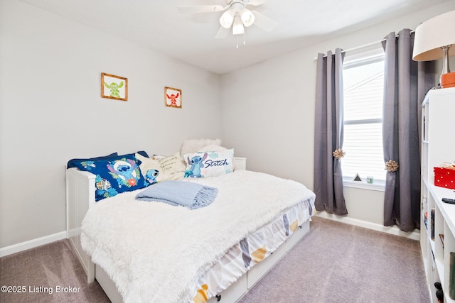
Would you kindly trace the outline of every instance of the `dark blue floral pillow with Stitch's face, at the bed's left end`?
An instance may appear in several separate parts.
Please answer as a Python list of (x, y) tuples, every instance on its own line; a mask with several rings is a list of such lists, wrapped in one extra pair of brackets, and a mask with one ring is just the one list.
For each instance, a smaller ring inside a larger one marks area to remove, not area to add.
[(92, 165), (77, 165), (96, 175), (95, 201), (113, 197), (121, 192), (130, 192), (149, 185), (142, 177), (139, 160), (134, 155), (124, 155), (109, 160), (95, 160)]

